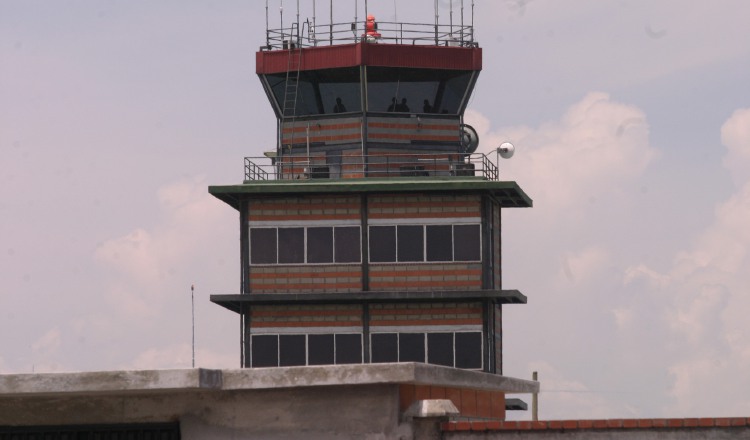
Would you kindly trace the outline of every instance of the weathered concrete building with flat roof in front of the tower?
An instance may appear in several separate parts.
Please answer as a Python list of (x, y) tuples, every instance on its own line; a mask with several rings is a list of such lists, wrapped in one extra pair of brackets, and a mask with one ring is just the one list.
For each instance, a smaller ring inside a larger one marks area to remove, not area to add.
[(186, 440), (438, 435), (445, 417), (399, 413), (402, 384), (538, 389), (536, 382), (409, 363), (0, 375), (0, 426), (178, 421)]

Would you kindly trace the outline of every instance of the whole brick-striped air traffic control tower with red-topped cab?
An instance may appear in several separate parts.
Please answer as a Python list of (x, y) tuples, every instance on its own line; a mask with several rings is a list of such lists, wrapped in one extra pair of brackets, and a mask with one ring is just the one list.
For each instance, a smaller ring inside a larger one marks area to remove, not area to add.
[(276, 148), (209, 188), (240, 217), (239, 293), (211, 301), (240, 316), (242, 366), (502, 374), (503, 309), (526, 302), (502, 286), (502, 211), (532, 201), (463, 124), (472, 26), (370, 15), (266, 35)]

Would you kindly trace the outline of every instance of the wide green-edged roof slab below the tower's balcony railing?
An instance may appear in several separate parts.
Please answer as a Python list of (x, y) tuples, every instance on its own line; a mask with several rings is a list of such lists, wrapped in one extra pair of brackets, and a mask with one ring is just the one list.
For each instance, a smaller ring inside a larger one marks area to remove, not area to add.
[(409, 192), (487, 193), (502, 208), (530, 208), (531, 198), (514, 181), (486, 180), (482, 177), (412, 177), (311, 180), (253, 180), (237, 185), (212, 185), (208, 192), (235, 209), (240, 200), (252, 196), (297, 194), (367, 194)]

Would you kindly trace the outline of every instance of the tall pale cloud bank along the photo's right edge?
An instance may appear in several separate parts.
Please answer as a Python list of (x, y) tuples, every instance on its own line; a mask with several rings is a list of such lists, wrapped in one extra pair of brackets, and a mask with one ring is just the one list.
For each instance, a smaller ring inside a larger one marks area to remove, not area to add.
[[(721, 129), (724, 164), (739, 184), (721, 203), (713, 223), (665, 273), (645, 266), (629, 270), (626, 282), (645, 279), (667, 295), (663, 318), (679, 344), (669, 362), (673, 410), (695, 414), (710, 403), (716, 414), (750, 411), (750, 109), (736, 111)], [(708, 401), (707, 401), (708, 399)], [(702, 403), (699, 403), (702, 402)]]

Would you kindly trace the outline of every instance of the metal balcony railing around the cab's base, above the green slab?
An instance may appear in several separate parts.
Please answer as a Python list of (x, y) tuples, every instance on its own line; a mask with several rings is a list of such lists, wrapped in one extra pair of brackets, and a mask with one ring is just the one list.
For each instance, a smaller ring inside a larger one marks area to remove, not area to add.
[(482, 177), (498, 180), (497, 166), (484, 154), (376, 153), (371, 155), (283, 155), (245, 158), (245, 180), (319, 180), (393, 177)]

